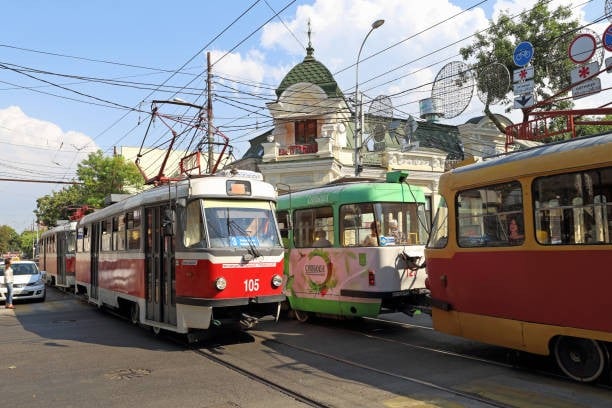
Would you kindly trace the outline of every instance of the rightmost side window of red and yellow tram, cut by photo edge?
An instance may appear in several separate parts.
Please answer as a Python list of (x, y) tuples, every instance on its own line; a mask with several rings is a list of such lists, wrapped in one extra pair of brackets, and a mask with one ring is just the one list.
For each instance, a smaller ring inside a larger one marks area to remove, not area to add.
[(544, 245), (612, 242), (612, 168), (534, 180), (536, 239)]

